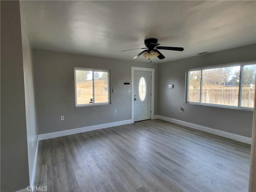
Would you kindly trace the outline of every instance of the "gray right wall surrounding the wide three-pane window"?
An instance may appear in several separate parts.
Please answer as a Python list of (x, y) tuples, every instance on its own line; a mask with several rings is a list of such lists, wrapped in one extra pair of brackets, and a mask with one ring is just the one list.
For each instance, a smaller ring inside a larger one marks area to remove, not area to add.
[[(185, 103), (186, 69), (256, 60), (256, 45), (160, 64), (158, 114), (242, 136), (252, 137), (252, 111)], [(174, 89), (168, 89), (174, 84)], [(178, 108), (184, 108), (179, 112)]]

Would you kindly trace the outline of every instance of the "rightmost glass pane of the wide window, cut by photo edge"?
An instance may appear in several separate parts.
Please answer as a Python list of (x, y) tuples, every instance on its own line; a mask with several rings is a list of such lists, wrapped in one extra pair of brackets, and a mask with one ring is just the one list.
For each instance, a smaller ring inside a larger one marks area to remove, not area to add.
[(245, 65), (242, 80), (242, 107), (254, 107), (256, 65)]

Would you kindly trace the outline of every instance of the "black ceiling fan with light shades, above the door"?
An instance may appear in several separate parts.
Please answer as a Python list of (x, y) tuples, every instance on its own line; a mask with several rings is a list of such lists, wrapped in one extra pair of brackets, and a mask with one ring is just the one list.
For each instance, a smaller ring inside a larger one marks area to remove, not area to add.
[[(183, 47), (158, 46), (160, 44), (158, 43), (158, 40), (155, 39), (155, 38), (145, 39), (144, 43), (145, 43), (145, 46), (146, 46), (145, 48), (137, 48), (137, 49), (146, 49), (146, 50), (143, 50), (138, 55), (134, 56), (132, 59), (136, 59), (136, 58), (138, 58), (139, 56), (141, 56), (143, 54), (143, 56), (145, 58), (148, 58), (148, 60), (150, 60), (150, 62), (152, 62), (151, 61), (152, 58), (156, 58), (156, 57), (158, 57), (159, 59), (164, 59), (165, 58), (165, 56), (160, 51), (158, 51), (158, 49), (173, 50), (173, 51), (183, 51), (184, 50)], [(130, 50), (135, 50), (135, 49), (128, 49), (128, 50), (123, 50), (123, 51), (130, 51)]]

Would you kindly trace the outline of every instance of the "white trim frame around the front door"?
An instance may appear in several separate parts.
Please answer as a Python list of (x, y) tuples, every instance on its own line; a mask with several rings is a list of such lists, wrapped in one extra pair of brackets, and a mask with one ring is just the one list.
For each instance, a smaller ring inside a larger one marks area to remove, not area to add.
[(132, 67), (132, 82), (131, 82), (131, 88), (132, 88), (132, 94), (131, 94), (131, 119), (132, 123), (134, 123), (134, 71), (146, 71), (151, 72), (151, 119), (154, 119), (154, 93), (155, 93), (155, 69), (154, 68), (144, 68), (144, 67)]

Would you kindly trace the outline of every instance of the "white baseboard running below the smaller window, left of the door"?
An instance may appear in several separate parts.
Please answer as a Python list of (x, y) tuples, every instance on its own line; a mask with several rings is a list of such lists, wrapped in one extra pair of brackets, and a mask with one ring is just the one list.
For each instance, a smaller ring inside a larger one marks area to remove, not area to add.
[(126, 124), (131, 124), (131, 123), (133, 123), (133, 122), (131, 119), (129, 119), (129, 120), (124, 120), (124, 121), (117, 121), (117, 122), (81, 127), (81, 128), (76, 128), (76, 129), (69, 129), (69, 130), (64, 130), (64, 131), (45, 133), (45, 134), (38, 135), (38, 139), (39, 140), (51, 139), (51, 138), (56, 138), (56, 137), (61, 137), (61, 136), (67, 136), (67, 135), (87, 132), (87, 131), (93, 131), (93, 130), (98, 130), (98, 129), (114, 127), (114, 126), (126, 125)]

